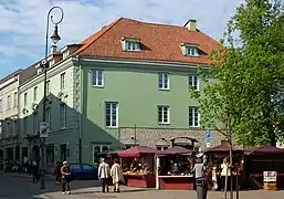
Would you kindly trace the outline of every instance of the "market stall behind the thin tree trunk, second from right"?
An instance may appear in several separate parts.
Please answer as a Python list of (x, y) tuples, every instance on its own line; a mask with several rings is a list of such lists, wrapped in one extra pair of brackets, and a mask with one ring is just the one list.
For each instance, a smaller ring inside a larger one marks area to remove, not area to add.
[[(217, 189), (221, 190), (225, 188), (225, 180), (224, 176), (222, 176), (222, 164), (224, 159), (229, 161), (229, 153), (230, 153), (230, 146), (229, 145), (219, 145), (211, 148), (208, 148), (204, 150), (204, 154), (208, 156), (207, 165), (209, 172), (214, 172), (215, 179), (217, 179)], [(243, 169), (242, 169), (242, 160), (244, 150), (241, 148), (238, 148), (235, 146), (232, 147), (233, 153), (233, 168), (231, 169), (230, 176), (228, 177), (228, 188), (230, 189), (230, 178), (233, 178), (233, 189), (239, 189), (240, 185), (243, 182)], [(212, 177), (211, 177), (212, 178)], [(210, 187), (210, 186), (209, 186)]]

